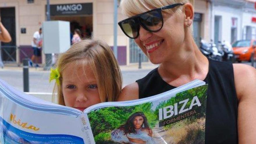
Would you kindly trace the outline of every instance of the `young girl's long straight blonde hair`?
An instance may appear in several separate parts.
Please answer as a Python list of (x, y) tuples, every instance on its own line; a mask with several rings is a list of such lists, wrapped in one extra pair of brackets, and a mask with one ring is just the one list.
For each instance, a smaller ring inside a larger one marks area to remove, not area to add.
[(117, 60), (111, 48), (99, 40), (82, 40), (71, 46), (58, 57), (60, 85), (55, 84), (58, 104), (65, 105), (62, 92), (62, 73), (70, 64), (77, 68), (90, 66), (95, 75), (101, 102), (117, 100), (122, 89), (122, 76)]

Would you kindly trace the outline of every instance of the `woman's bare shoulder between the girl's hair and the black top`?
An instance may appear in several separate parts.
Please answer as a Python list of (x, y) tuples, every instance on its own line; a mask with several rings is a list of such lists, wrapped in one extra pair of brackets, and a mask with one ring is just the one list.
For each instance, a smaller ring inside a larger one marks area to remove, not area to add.
[(138, 83), (131, 83), (122, 89), (122, 92), (118, 98), (118, 101), (127, 101), (139, 98), (139, 86)]

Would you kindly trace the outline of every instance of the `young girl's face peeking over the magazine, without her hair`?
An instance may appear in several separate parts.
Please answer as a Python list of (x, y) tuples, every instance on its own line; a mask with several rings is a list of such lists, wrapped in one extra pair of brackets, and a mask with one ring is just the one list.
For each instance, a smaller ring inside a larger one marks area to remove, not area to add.
[(81, 111), (101, 102), (90, 66), (76, 68), (73, 63), (67, 65), (62, 73), (62, 90), (65, 105)]

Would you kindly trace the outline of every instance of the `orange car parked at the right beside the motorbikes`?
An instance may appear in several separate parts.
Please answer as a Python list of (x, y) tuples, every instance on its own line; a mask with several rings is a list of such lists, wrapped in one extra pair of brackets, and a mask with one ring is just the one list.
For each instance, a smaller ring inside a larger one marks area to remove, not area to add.
[(256, 59), (256, 40), (238, 40), (232, 47), (238, 62)]

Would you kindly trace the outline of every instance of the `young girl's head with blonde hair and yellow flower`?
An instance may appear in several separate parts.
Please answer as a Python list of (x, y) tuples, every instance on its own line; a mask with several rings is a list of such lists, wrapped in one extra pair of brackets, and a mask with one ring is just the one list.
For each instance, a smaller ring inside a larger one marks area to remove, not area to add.
[(110, 47), (99, 40), (82, 40), (61, 54), (56, 79), (58, 104), (83, 111), (100, 102), (115, 101), (121, 92), (122, 77)]

